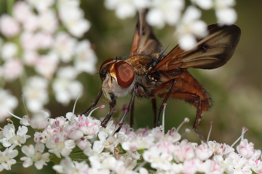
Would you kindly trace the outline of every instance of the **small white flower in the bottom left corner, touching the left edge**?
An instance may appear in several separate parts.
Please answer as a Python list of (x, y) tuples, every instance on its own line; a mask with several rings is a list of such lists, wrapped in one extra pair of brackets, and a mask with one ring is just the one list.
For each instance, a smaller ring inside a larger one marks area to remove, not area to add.
[(16, 163), (13, 158), (18, 155), (18, 150), (14, 149), (15, 146), (6, 148), (3, 152), (0, 151), (0, 172), (3, 169), (11, 170), (11, 165)]

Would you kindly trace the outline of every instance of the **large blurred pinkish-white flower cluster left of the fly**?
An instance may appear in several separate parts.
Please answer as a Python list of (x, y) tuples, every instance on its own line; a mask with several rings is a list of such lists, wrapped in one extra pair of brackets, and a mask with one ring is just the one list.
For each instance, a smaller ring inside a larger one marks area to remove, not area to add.
[(89, 28), (80, 0), (15, 1), (11, 14), (0, 16), (0, 121), (18, 105), (5, 82), (19, 78), (33, 113), (48, 103), (50, 86), (64, 105), (82, 95), (76, 78), (94, 73), (97, 62), (90, 42), (78, 40)]

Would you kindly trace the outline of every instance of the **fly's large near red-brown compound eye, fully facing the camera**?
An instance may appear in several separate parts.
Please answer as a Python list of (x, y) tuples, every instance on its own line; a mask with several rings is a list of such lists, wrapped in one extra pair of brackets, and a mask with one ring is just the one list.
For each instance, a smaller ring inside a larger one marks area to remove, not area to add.
[(135, 78), (133, 68), (125, 61), (117, 62), (115, 67), (118, 85), (122, 88), (128, 88)]

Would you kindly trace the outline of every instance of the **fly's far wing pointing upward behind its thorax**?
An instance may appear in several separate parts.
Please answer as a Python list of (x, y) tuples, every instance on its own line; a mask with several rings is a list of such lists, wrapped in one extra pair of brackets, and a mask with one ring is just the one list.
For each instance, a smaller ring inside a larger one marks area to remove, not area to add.
[(133, 36), (133, 42), (131, 46), (130, 55), (140, 53), (152, 53), (159, 52), (162, 49), (162, 45), (156, 38), (153, 28), (146, 22), (146, 14), (148, 10), (140, 10), (137, 18), (137, 25)]

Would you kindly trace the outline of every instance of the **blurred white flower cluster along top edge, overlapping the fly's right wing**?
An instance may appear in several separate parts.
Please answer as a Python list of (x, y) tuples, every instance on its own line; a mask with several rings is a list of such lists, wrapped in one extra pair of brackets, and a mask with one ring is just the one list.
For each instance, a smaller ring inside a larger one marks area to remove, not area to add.
[(184, 50), (195, 46), (195, 37), (207, 35), (207, 24), (200, 20), (200, 9), (214, 9), (217, 22), (221, 25), (233, 24), (237, 19), (237, 14), (232, 8), (235, 0), (190, 1), (192, 5), (186, 7), (185, 0), (105, 0), (105, 6), (115, 10), (120, 19), (133, 17), (137, 11), (149, 8), (147, 22), (158, 28), (163, 28), (166, 24), (176, 26), (175, 35)]

